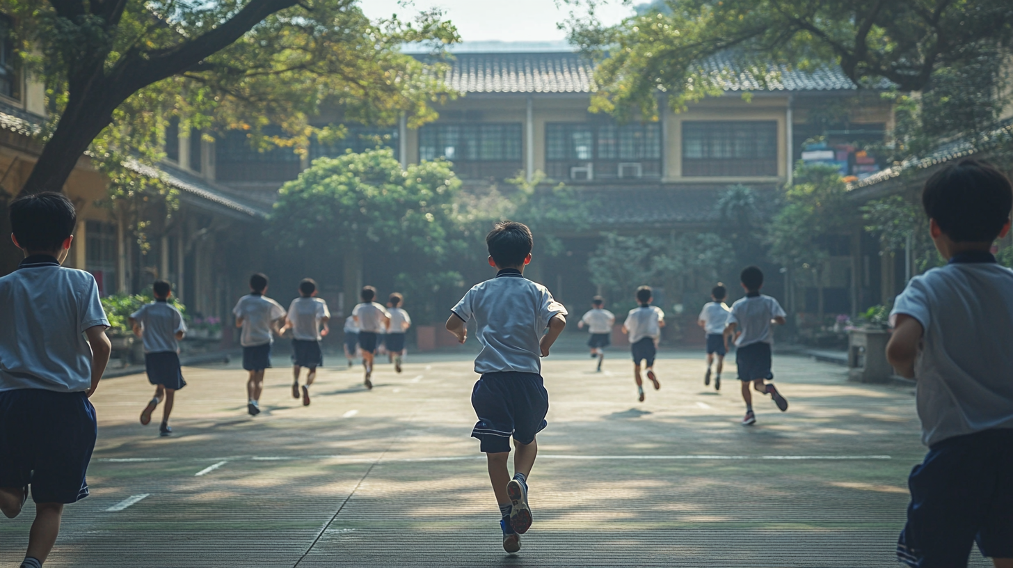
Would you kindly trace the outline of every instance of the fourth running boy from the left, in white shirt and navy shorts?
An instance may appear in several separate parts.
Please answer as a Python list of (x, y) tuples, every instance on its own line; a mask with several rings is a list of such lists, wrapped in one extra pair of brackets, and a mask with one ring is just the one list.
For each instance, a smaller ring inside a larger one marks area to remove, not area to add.
[[(330, 310), (327, 302), (316, 296), (316, 281), (304, 278), (299, 283), (299, 297), (292, 300), (285, 316), (285, 330), (292, 330), (292, 398), (298, 399), (299, 373), (306, 367), (306, 384), (303, 385), (303, 406), (310, 406), (310, 384), (316, 378), (316, 368), (323, 366), (320, 340), (330, 333)], [(320, 328), (323, 328), (323, 331)]]

